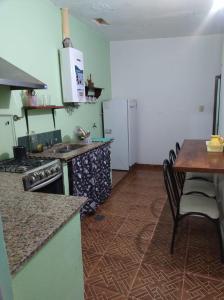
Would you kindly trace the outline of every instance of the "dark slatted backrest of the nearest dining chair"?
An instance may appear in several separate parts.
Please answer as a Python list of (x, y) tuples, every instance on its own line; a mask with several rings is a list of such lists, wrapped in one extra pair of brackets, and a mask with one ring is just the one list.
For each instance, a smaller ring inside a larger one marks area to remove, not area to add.
[(173, 174), (173, 168), (168, 159), (163, 161), (163, 176), (173, 219), (179, 213), (180, 193)]

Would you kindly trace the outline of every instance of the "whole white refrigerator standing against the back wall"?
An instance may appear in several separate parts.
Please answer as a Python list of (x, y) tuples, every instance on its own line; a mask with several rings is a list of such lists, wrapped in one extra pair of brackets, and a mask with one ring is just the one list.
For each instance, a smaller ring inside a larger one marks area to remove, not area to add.
[(104, 137), (111, 143), (113, 170), (129, 170), (137, 162), (137, 101), (103, 102)]

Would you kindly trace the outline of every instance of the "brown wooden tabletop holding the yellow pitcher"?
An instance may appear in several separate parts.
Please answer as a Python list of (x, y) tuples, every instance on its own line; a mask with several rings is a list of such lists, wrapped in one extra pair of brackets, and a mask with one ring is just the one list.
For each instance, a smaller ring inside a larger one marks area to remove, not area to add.
[(174, 168), (183, 172), (224, 173), (224, 153), (207, 152), (205, 140), (184, 140)]

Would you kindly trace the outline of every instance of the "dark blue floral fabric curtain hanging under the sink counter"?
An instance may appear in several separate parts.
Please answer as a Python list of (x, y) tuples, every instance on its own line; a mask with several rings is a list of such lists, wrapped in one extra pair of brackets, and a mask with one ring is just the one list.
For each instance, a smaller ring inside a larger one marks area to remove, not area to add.
[(85, 196), (88, 202), (81, 216), (93, 214), (111, 193), (110, 145), (106, 144), (72, 159), (74, 196)]

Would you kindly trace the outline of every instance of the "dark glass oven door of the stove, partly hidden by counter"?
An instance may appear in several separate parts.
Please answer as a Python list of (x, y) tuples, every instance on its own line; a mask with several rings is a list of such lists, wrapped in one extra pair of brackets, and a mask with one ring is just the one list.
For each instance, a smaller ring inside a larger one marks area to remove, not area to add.
[(62, 174), (44, 181), (30, 189), (31, 192), (40, 192), (48, 194), (64, 194), (64, 184)]

